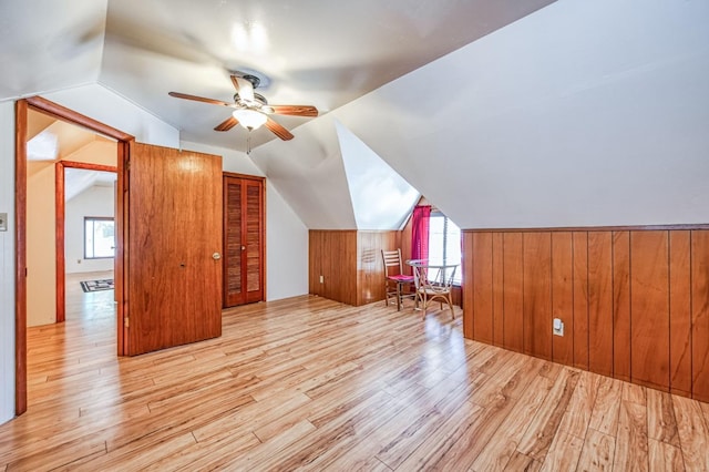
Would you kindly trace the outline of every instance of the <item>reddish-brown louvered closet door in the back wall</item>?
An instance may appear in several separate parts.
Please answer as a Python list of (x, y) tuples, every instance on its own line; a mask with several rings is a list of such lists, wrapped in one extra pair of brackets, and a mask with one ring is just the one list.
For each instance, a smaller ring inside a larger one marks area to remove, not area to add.
[(224, 176), (224, 306), (264, 299), (264, 179)]

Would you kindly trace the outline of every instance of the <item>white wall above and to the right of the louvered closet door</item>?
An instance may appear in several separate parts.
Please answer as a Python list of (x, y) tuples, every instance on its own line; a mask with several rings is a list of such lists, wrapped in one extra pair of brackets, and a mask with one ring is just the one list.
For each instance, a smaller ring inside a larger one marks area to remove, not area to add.
[[(224, 172), (264, 176), (245, 153), (223, 147), (183, 142), (189, 151), (222, 156)], [(291, 206), (266, 179), (266, 299), (308, 293), (308, 228)]]

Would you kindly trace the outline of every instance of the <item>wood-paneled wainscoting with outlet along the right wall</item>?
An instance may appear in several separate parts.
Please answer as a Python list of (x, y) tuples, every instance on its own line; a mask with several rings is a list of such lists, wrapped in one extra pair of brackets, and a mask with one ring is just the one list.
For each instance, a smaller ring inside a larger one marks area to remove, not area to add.
[(709, 402), (708, 229), (464, 232), (464, 336)]

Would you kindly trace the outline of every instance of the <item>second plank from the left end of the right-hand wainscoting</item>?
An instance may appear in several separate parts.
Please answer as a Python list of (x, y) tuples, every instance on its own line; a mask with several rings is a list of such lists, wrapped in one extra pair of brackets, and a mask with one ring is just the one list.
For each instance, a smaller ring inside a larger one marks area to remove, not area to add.
[(492, 234), (473, 235), (473, 339), (493, 342)]

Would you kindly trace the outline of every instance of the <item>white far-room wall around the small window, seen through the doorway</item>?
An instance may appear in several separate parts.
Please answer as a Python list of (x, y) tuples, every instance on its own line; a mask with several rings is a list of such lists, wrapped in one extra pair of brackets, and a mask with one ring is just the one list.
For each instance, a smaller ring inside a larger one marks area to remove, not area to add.
[(66, 273), (113, 270), (113, 258), (84, 259), (84, 217), (113, 217), (113, 187), (92, 186), (66, 202), (64, 208), (64, 255)]

